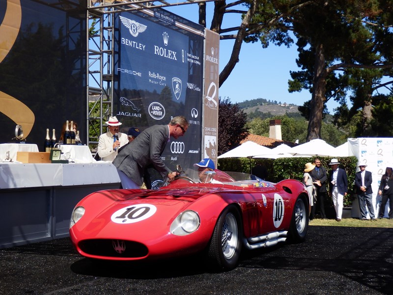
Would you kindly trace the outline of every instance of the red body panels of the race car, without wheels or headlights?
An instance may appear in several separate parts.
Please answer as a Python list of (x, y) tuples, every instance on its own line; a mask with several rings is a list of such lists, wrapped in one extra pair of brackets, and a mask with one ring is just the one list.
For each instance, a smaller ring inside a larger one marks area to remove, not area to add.
[[(230, 178), (227, 176), (226, 181)], [(76, 207), (84, 207), (85, 213), (71, 227), (70, 237), (81, 255), (96, 259), (141, 260), (187, 255), (206, 248), (221, 212), (230, 204), (241, 213), (245, 238), (287, 231), (294, 203), (301, 195), (308, 200), (304, 185), (293, 179), (277, 184), (252, 180), (230, 180), (224, 184), (179, 180), (159, 190), (98, 191), (77, 204)], [(170, 225), (185, 210), (198, 213), (200, 226), (189, 235), (176, 236), (170, 232)], [(126, 250), (118, 253), (123, 248)]]

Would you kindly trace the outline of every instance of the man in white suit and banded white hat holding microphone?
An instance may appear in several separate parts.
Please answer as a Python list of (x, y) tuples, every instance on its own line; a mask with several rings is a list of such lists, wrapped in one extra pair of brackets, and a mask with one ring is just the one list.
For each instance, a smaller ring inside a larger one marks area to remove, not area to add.
[(112, 162), (119, 148), (128, 143), (128, 138), (127, 134), (119, 132), (121, 123), (116, 117), (109, 117), (105, 123), (108, 125), (109, 131), (100, 135), (97, 152), (103, 161)]

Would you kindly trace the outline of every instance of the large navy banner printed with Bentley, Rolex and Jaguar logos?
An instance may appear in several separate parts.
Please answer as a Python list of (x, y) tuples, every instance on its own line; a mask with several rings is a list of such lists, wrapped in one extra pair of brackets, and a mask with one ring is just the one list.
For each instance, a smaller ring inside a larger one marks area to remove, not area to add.
[(163, 9), (121, 13), (115, 26), (113, 115), (121, 132), (185, 116), (188, 131), (171, 138), (162, 158), (169, 169), (191, 168), (202, 155), (204, 28)]

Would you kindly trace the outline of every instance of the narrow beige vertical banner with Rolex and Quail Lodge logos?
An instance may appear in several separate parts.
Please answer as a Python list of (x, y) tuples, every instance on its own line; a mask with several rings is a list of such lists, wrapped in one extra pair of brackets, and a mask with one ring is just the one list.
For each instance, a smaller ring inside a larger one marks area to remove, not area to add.
[(218, 87), (219, 87), (219, 34), (205, 31), (205, 84), (203, 101), (203, 142), (204, 157), (210, 158), (217, 167), (218, 138)]

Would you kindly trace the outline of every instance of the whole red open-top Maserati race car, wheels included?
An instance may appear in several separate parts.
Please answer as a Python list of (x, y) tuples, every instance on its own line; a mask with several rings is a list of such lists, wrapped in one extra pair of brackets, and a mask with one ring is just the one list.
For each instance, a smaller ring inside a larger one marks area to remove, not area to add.
[(309, 195), (301, 182), (271, 183), (219, 170), (210, 174), (215, 183), (197, 182), (197, 175), (189, 174), (158, 190), (88, 195), (72, 212), (73, 245), (81, 255), (102, 260), (201, 252), (216, 270), (230, 270), (238, 265), (242, 248), (305, 240)]

